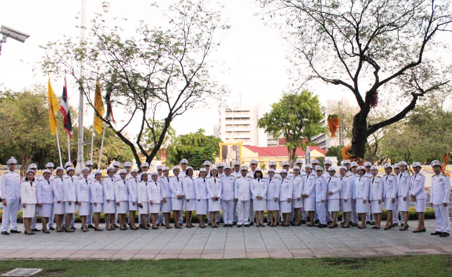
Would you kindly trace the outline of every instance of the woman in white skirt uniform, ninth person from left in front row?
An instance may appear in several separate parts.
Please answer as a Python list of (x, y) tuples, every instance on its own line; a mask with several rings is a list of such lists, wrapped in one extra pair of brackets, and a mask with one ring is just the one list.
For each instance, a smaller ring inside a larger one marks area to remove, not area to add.
[(118, 173), (120, 180), (115, 182), (116, 211), (118, 212), (120, 230), (125, 231), (127, 230), (126, 214), (129, 211), (129, 188), (126, 182), (127, 171), (121, 169)]

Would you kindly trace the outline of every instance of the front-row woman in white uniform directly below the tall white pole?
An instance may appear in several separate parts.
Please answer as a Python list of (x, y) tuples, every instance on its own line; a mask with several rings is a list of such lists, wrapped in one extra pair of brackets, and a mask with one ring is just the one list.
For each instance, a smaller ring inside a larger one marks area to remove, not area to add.
[(78, 195), (78, 215), (80, 216), (80, 221), (82, 223), (82, 231), (87, 232), (86, 228), (86, 217), (91, 214), (91, 204), (89, 190), (90, 182), (88, 176), (91, 170), (87, 167), (82, 169), (82, 175), (77, 180), (77, 195)]

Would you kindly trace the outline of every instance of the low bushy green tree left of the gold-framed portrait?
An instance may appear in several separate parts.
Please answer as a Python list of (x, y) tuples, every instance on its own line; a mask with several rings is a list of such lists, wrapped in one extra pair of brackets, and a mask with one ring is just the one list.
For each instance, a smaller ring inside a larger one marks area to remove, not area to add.
[(219, 157), (221, 139), (213, 135), (205, 135), (199, 128), (194, 133), (181, 134), (172, 141), (166, 151), (168, 165), (178, 165), (180, 160), (187, 159), (189, 165), (197, 170), (208, 160), (214, 163)]

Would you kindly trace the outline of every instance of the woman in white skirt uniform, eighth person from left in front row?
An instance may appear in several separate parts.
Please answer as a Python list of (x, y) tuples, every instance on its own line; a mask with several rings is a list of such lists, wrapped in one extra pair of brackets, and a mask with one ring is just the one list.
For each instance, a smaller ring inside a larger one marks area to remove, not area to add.
[(103, 179), (103, 213), (105, 214), (105, 228), (108, 231), (116, 230), (115, 228), (115, 169), (107, 168), (107, 177)]

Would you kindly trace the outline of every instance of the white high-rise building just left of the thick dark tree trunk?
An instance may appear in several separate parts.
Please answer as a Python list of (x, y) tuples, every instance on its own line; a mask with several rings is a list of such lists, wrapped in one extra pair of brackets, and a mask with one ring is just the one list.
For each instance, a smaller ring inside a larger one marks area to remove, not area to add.
[[(334, 100), (330, 99), (326, 101), (326, 107), (323, 107), (323, 119), (322, 124), (326, 127), (328, 127), (328, 124), (326, 122), (328, 115), (330, 114), (338, 114), (338, 116), (341, 118), (341, 110), (343, 108), (349, 108), (350, 103), (347, 98), (342, 97), (340, 100)], [(314, 136), (311, 138), (312, 142), (316, 143), (318, 147), (322, 149), (328, 149), (332, 146), (346, 146), (350, 144), (350, 140), (345, 137), (345, 132), (341, 127), (341, 124), (339, 126), (339, 129), (337, 130), (336, 136), (331, 137), (329, 135), (329, 132), (326, 134), (320, 134), (317, 136)]]

